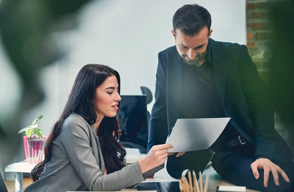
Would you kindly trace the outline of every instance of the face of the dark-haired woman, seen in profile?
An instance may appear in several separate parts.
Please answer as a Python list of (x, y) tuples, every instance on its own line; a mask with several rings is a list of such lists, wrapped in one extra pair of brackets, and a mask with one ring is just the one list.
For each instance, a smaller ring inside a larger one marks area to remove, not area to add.
[(99, 87), (96, 88), (94, 107), (101, 119), (115, 117), (119, 110), (118, 104), (122, 100), (118, 93), (119, 84), (115, 75), (108, 77)]

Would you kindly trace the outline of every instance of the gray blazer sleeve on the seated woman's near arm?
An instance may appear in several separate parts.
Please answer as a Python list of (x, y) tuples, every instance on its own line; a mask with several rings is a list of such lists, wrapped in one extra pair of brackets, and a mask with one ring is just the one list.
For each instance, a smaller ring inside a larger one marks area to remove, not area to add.
[(89, 134), (86, 121), (71, 116), (59, 135), (71, 165), (89, 190), (117, 191), (145, 180), (138, 162), (104, 175), (93, 155)]

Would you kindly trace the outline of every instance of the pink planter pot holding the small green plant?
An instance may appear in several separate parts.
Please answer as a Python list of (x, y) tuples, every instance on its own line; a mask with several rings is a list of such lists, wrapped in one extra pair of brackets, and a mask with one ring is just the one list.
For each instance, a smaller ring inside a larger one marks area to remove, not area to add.
[(47, 136), (45, 135), (43, 135), (43, 139), (37, 135), (24, 136), (25, 158), (29, 164), (38, 164), (43, 160), (46, 140)]

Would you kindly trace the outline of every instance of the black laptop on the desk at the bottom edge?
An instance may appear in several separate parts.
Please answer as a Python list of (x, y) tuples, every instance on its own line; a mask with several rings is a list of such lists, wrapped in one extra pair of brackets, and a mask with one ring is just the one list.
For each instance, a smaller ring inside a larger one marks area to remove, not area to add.
[(179, 182), (177, 181), (139, 183), (137, 189), (138, 191), (180, 192)]

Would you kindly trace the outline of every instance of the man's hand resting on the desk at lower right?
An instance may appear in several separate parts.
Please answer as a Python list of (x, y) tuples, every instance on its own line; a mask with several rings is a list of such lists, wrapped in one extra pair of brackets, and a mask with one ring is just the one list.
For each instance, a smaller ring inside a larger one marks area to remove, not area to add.
[(251, 164), (251, 169), (252, 169), (252, 172), (253, 172), (255, 179), (259, 178), (259, 172), (257, 170), (258, 168), (264, 169), (264, 186), (265, 187), (268, 187), (270, 172), (272, 173), (273, 180), (274, 180), (274, 183), (276, 186), (279, 186), (278, 173), (280, 175), (282, 175), (282, 177), (284, 178), (284, 180), (286, 182), (290, 183), (290, 180), (289, 180), (287, 174), (279, 166), (272, 163), (269, 159), (260, 158), (260, 159), (255, 160)]

